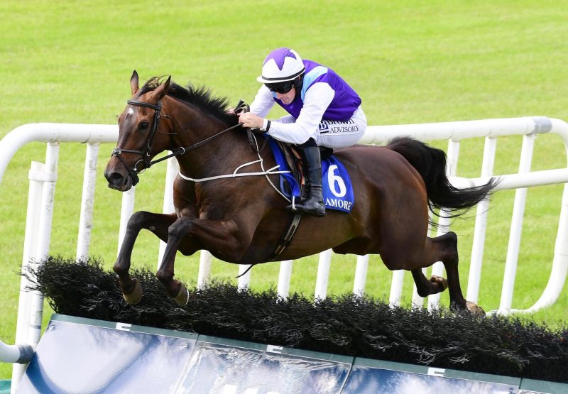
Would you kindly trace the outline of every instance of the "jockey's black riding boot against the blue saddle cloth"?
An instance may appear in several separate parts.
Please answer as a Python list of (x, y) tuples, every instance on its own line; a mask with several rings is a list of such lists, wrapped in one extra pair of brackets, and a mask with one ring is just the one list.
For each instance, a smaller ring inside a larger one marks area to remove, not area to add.
[(304, 161), (305, 174), (307, 177), (307, 198), (294, 207), (288, 207), (302, 214), (310, 214), (318, 217), (325, 216), (324, 197), (322, 194), (322, 158), (320, 148), (315, 141), (310, 139), (300, 146), (300, 155)]

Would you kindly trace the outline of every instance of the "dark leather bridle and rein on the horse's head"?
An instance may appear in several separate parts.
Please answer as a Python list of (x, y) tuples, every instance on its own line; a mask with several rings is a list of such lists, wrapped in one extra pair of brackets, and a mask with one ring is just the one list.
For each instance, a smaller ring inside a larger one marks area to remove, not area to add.
[[(111, 156), (114, 156), (117, 159), (119, 159), (121, 161), (121, 163), (124, 165), (124, 167), (126, 168), (126, 170), (129, 173), (129, 176), (132, 179), (132, 185), (133, 186), (136, 186), (136, 184), (140, 181), (140, 179), (138, 178), (138, 174), (142, 173), (144, 170), (146, 170), (148, 168), (151, 168), (151, 166), (154, 165), (155, 163), (160, 163), (160, 161), (168, 160), (169, 158), (173, 158), (175, 156), (182, 155), (182, 154), (186, 153), (187, 151), (192, 151), (192, 149), (199, 148), (200, 146), (204, 145), (205, 143), (208, 143), (209, 141), (211, 141), (213, 138), (218, 137), (218, 136), (222, 135), (223, 133), (226, 133), (226, 131), (229, 131), (229, 130), (232, 130), (233, 128), (237, 128), (237, 127), (242, 126), (242, 124), (239, 123), (239, 124), (236, 124), (236, 125), (231, 126), (229, 128), (225, 128), (223, 131), (219, 131), (219, 133), (214, 134), (214, 135), (212, 135), (208, 138), (205, 138), (203, 141), (200, 141), (198, 143), (194, 143), (192, 146), (187, 146), (186, 148), (183, 148), (182, 146), (180, 146), (176, 151), (173, 151), (169, 155), (165, 155), (163, 158), (159, 158), (157, 160), (150, 160), (151, 152), (152, 152), (152, 143), (154, 141), (155, 133), (158, 132), (158, 124), (160, 124), (160, 118), (162, 118), (162, 117), (168, 118), (168, 119), (172, 119), (172, 118), (168, 115), (160, 114), (161, 111), (162, 111), (162, 101), (161, 100), (159, 100), (158, 103), (156, 103), (155, 105), (147, 103), (147, 102), (140, 102), (138, 100), (128, 100), (126, 103), (128, 103), (130, 105), (134, 105), (134, 106), (146, 106), (147, 108), (151, 108), (155, 111), (154, 120), (152, 122), (152, 129), (150, 131), (150, 134), (148, 135), (148, 139), (146, 140), (146, 148), (144, 149), (144, 151), (136, 151), (134, 149), (123, 149), (123, 148), (116, 147), (116, 148), (113, 149), (113, 151), (111, 153)], [(169, 135), (175, 135), (176, 133), (168, 133), (168, 134)], [(124, 161), (124, 159), (121, 158), (122, 153), (135, 153), (136, 155), (141, 155), (142, 158), (134, 164), (133, 168), (129, 168), (129, 166), (126, 165), (126, 162)], [(138, 163), (142, 164), (141, 170), (138, 170)]]

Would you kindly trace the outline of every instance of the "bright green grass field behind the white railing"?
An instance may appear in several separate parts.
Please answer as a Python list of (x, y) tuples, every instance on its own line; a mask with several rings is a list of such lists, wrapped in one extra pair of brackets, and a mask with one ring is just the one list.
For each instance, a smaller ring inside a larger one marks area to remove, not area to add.
[[(329, 65), (361, 94), (369, 124), (542, 115), (568, 120), (568, 6), (557, 1), (13, 1), (0, 3), (0, 136), (35, 122), (113, 124), (129, 99), (129, 77), (172, 75), (180, 84), (212, 87), (214, 94), (251, 102), (255, 77), (269, 50), (295, 48)], [(520, 138), (498, 141), (496, 173), (518, 170)], [(436, 142), (444, 147), (445, 142)], [(476, 177), (483, 141), (464, 141), (459, 175)], [(113, 147), (99, 153), (91, 252), (109, 266), (116, 256), (121, 195), (102, 172)], [(13, 341), (31, 160), (45, 160), (44, 144), (18, 152), (0, 185), (0, 338)], [(51, 253), (73, 256), (81, 199), (82, 146), (61, 146)], [(556, 136), (540, 136), (532, 168), (566, 165)], [(160, 211), (165, 165), (145, 173), (136, 209)], [(525, 308), (547, 283), (562, 187), (528, 192), (523, 245), (513, 307)], [(480, 304), (498, 307), (514, 192), (499, 192), (489, 211)], [(470, 216), (472, 216), (471, 214)], [(473, 219), (457, 221), (461, 281)], [(141, 234), (133, 263), (155, 266), (158, 243)], [(178, 275), (197, 277), (197, 257), (179, 258)], [(330, 292), (351, 291), (356, 258), (334, 258)], [(371, 257), (367, 288), (388, 296), (391, 276)], [(237, 268), (214, 264), (214, 275), (234, 280)], [(295, 262), (292, 291), (311, 294), (317, 258)], [(278, 265), (253, 269), (253, 287), (275, 285)], [(410, 297), (410, 275), (405, 295)], [(447, 292), (442, 296), (447, 304)], [(535, 319), (566, 322), (564, 290)], [(0, 366), (9, 378), (10, 366)]]

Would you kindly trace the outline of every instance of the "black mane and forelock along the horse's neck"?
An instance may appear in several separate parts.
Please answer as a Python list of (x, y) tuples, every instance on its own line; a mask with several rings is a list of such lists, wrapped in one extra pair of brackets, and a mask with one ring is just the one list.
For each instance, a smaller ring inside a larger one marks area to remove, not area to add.
[[(151, 77), (138, 92), (138, 97), (153, 91), (162, 82), (162, 77)], [(170, 82), (170, 89), (168, 89), (167, 95), (188, 106), (197, 106), (202, 111), (215, 116), (227, 124), (237, 123), (237, 117), (226, 112), (229, 100), (226, 97), (213, 97), (207, 87), (194, 87), (191, 83), (187, 87), (181, 87), (175, 82)]]

